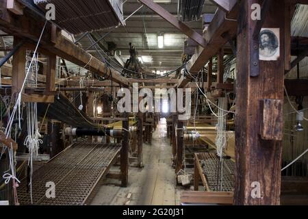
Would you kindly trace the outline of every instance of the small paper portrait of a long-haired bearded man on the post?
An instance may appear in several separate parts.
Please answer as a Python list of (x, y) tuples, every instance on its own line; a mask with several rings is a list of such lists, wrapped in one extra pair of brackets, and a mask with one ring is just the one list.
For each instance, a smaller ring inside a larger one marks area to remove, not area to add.
[(259, 60), (274, 61), (279, 56), (279, 28), (262, 28), (259, 34)]

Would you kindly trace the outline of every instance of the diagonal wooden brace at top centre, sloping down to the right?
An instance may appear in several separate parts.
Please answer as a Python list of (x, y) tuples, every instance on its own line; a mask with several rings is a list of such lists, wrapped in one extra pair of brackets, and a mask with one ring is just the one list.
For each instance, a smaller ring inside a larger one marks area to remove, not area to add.
[(179, 19), (176, 16), (170, 14), (168, 11), (162, 8), (162, 6), (158, 5), (157, 3), (154, 3), (152, 0), (139, 0), (139, 1), (144, 5), (146, 5), (149, 9), (153, 10), (153, 12), (164, 18), (172, 26), (182, 31), (183, 34), (194, 40), (201, 47), (206, 46), (207, 42), (205, 41), (203, 36), (194, 31), (194, 29), (188, 27), (188, 25), (185, 25), (185, 23), (179, 21)]

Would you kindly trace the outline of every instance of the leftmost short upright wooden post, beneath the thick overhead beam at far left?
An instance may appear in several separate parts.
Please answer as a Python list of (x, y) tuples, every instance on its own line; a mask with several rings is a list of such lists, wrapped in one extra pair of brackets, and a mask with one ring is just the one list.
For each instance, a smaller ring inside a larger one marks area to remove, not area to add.
[[(19, 38), (14, 36), (13, 47), (21, 42)], [(22, 46), (16, 51), (12, 62), (12, 94), (21, 91), (23, 81), (25, 80), (25, 64), (26, 64), (26, 47)]]

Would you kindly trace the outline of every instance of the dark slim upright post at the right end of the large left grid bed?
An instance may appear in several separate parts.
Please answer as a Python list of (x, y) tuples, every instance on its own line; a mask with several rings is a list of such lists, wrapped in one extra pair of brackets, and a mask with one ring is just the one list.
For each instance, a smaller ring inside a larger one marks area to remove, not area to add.
[[(123, 130), (129, 130), (129, 116), (127, 113), (123, 114), (124, 118), (127, 120), (123, 120), (122, 127)], [(120, 155), (120, 170), (121, 170), (121, 186), (127, 187), (128, 182), (128, 167), (129, 167), (129, 133), (127, 131), (123, 131), (123, 140), (122, 140), (122, 149)]]

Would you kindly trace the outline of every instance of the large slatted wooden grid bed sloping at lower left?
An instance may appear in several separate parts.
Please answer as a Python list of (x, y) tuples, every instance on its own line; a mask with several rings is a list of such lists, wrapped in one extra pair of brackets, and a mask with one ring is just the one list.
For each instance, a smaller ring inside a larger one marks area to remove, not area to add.
[[(116, 162), (120, 144), (79, 142), (34, 172), (32, 200), (34, 205), (86, 205), (98, 185)], [(55, 198), (47, 198), (47, 183), (55, 183)], [(21, 205), (31, 205), (27, 178), (18, 187)]]

